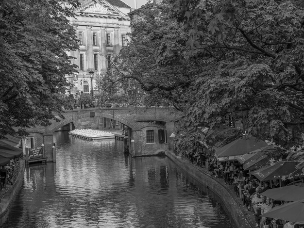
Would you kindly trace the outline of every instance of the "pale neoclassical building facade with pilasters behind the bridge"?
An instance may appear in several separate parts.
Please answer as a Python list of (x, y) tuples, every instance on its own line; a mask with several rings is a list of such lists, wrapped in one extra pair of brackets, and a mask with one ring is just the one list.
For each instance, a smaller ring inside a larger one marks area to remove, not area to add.
[[(126, 45), (126, 34), (130, 32), (131, 7), (121, 0), (82, 0), (75, 11), (75, 18), (69, 18), (79, 39), (79, 49), (69, 54), (76, 59), (78, 74), (67, 76), (70, 91), (91, 93), (95, 79), (102, 77), (108, 69), (113, 55)], [(93, 73), (93, 79), (90, 78)], [(68, 88), (69, 89), (69, 88)]]

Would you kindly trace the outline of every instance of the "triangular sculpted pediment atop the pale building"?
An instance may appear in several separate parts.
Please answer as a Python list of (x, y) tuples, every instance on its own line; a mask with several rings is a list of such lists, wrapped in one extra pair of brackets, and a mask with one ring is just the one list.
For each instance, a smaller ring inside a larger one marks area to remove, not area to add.
[(84, 15), (108, 15), (108, 16), (126, 16), (121, 11), (119, 11), (116, 7), (111, 5), (109, 2), (105, 0), (93, 1), (88, 0), (85, 1), (82, 6), (75, 11), (77, 14)]

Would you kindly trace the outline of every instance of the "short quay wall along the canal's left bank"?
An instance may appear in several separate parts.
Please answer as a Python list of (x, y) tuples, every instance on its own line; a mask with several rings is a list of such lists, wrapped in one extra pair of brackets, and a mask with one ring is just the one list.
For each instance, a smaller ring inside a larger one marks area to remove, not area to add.
[(20, 171), (13, 185), (7, 183), (5, 190), (0, 190), (0, 220), (5, 219), (5, 213), (9, 209), (15, 196), (19, 192), (24, 178), (25, 160), (20, 161)]

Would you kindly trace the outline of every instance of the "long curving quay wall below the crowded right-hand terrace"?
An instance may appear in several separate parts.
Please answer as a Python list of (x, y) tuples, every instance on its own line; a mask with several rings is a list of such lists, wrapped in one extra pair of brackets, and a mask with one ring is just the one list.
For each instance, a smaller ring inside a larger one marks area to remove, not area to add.
[(211, 176), (206, 168), (201, 168), (187, 159), (177, 158), (168, 150), (166, 151), (166, 156), (183, 169), (189, 176), (196, 179), (199, 183), (209, 188), (221, 198), (237, 228), (255, 227), (253, 212), (247, 211), (247, 208), (242, 204), (242, 201), (234, 193), (234, 190), (232, 189), (233, 186), (224, 185), (222, 179)]

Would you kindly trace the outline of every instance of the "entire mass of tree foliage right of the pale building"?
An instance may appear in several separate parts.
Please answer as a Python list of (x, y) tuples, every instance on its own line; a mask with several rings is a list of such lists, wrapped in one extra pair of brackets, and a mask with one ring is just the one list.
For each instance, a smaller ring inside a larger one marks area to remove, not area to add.
[(183, 111), (180, 146), (228, 115), (246, 133), (286, 145), (287, 127), (304, 126), (303, 7), (300, 0), (147, 4), (108, 82), (134, 80)]

